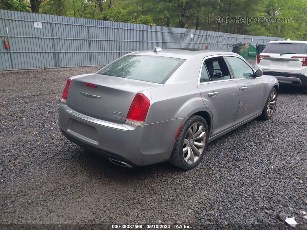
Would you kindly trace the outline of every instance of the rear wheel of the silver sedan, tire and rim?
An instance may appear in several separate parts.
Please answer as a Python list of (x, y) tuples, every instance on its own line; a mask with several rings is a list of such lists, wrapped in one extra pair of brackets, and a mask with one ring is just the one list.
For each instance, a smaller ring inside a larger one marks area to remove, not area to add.
[(203, 158), (207, 144), (207, 122), (200, 116), (192, 115), (181, 127), (169, 162), (181, 169), (190, 170)]

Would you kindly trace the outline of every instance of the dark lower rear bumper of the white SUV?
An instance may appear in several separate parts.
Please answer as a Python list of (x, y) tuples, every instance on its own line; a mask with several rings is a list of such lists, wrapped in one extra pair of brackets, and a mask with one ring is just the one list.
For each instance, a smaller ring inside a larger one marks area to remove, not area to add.
[(279, 84), (307, 85), (307, 76), (304, 74), (283, 72), (276, 73), (270, 71), (264, 71), (263, 74), (276, 77)]

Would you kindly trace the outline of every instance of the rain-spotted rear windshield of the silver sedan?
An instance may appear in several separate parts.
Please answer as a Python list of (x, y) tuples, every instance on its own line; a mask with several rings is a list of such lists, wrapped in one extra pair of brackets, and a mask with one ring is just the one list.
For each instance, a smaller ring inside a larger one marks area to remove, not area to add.
[(164, 84), (184, 59), (128, 55), (103, 68), (98, 74)]

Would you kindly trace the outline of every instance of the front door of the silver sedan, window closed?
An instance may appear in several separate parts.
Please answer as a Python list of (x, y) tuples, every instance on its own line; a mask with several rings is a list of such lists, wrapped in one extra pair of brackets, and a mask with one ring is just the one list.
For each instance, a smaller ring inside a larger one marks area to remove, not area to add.
[(255, 77), (255, 70), (243, 58), (226, 55), (226, 59), (240, 89), (236, 125), (262, 111), (260, 103), (264, 93), (264, 83), (261, 77)]

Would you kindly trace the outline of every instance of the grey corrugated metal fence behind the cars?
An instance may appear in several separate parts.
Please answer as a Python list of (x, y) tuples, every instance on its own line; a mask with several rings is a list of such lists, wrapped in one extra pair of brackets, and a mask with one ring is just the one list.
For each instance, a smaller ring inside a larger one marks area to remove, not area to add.
[[(238, 42), (283, 40), (0, 10), (0, 70), (105, 65), (124, 54), (153, 49), (228, 50)], [(8, 37), (9, 49), (3, 39)]]

